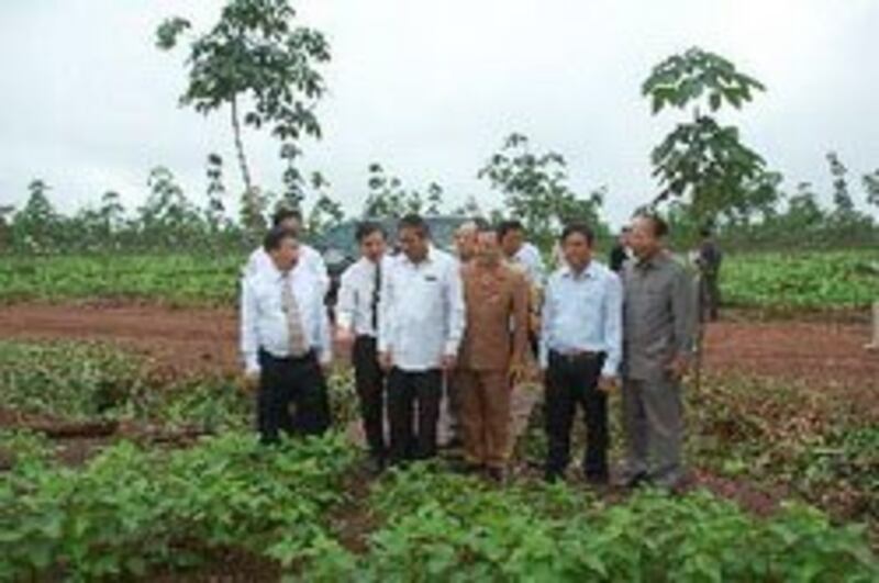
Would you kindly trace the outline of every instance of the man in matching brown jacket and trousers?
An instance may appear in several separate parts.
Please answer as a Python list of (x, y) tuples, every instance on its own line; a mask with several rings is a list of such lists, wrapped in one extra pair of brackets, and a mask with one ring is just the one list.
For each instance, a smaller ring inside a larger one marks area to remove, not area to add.
[(503, 260), (497, 232), (488, 226), (479, 229), (476, 258), (461, 277), (467, 325), (455, 378), (463, 395), (465, 462), (503, 481), (511, 393), (525, 369), (527, 282)]

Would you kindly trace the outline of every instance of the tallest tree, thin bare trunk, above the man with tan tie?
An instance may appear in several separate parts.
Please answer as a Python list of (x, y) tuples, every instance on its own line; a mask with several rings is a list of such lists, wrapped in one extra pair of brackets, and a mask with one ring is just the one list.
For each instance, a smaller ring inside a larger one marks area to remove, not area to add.
[[(321, 136), (314, 108), (325, 91), (319, 68), (330, 60), (330, 47), (322, 33), (296, 26), (294, 19), (287, 0), (230, 0), (219, 22), (192, 38), (186, 59), (189, 83), (180, 103), (205, 115), (230, 108), (248, 220), (262, 216), (264, 199), (244, 152), (242, 113), (244, 125), (270, 127), (282, 155), (303, 135)], [(167, 19), (156, 31), (157, 46), (173, 49), (190, 27), (183, 18)]]

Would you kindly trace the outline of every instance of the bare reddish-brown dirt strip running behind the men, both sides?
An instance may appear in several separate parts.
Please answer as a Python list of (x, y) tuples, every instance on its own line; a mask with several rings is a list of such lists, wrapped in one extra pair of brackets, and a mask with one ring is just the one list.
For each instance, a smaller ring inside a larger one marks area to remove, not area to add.
[[(879, 385), (879, 352), (867, 352), (867, 324), (720, 322), (705, 337), (704, 370), (827, 384)], [(0, 338), (116, 341), (176, 374), (237, 370), (237, 318), (231, 310), (158, 306), (40, 305), (0, 307)]]

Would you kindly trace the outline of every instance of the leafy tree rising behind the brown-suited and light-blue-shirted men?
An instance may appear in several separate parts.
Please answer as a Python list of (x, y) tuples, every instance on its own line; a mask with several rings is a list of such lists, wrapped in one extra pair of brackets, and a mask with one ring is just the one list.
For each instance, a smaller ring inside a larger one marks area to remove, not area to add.
[(507, 212), (520, 218), (530, 237), (544, 248), (569, 221), (583, 221), (597, 231), (607, 231), (599, 217), (604, 191), (579, 197), (568, 186), (565, 158), (552, 150), (532, 152), (522, 134), (511, 134), (478, 176), (503, 193)]

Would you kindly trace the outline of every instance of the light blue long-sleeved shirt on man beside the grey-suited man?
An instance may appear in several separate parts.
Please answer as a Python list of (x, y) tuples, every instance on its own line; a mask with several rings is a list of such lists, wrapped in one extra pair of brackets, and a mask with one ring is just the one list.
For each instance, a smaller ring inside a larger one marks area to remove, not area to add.
[(550, 350), (604, 352), (601, 373), (616, 377), (623, 354), (622, 324), (623, 288), (616, 273), (596, 261), (579, 274), (563, 267), (546, 285), (541, 368), (548, 366)]

